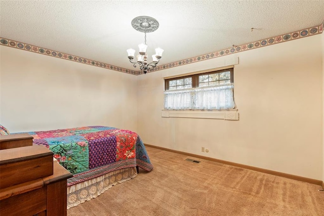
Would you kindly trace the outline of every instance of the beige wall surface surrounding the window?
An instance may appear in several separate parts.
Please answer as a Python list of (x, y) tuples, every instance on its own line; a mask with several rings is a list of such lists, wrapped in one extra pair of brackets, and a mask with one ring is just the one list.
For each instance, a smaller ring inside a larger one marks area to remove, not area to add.
[(321, 39), (315, 35), (236, 54), (238, 121), (161, 117), (161, 77), (209, 69), (229, 56), (138, 76), (138, 133), (146, 144), (322, 179)]

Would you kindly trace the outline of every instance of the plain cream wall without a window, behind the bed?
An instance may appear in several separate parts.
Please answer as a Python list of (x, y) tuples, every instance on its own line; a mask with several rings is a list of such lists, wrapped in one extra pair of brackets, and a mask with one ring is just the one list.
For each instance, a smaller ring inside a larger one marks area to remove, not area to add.
[(136, 76), (0, 46), (10, 132), (106, 125), (137, 131)]

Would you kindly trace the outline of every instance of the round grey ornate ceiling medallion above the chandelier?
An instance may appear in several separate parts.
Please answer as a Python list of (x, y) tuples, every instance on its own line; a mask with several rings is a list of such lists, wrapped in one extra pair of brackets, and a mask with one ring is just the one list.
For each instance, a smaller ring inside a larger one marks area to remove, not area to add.
[(158, 22), (152, 17), (139, 16), (132, 20), (132, 26), (136, 31), (150, 33), (158, 28)]

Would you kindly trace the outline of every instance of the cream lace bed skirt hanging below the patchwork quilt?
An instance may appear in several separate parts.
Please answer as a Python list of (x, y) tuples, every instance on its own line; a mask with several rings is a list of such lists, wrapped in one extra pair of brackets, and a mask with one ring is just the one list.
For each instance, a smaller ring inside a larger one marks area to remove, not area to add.
[(71, 185), (67, 188), (67, 209), (96, 198), (112, 186), (126, 182), (136, 176), (136, 167), (129, 167), (115, 170), (103, 176)]

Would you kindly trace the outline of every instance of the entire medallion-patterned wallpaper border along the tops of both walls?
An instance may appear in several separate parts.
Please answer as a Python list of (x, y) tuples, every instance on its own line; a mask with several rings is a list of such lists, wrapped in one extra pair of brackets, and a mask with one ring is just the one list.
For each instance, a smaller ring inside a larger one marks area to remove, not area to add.
[[(293, 31), (293, 32), (286, 33), (286, 34), (281, 34), (281, 35), (274, 36), (274, 37), (269, 37), (269, 38), (262, 39), (262, 40), (257, 40), (257, 41), (250, 42), (250, 43), (244, 44), (244, 45), (233, 46), (232, 48), (228, 48), (225, 50), (220, 50), (220, 51), (216, 51), (213, 53), (196, 56), (193, 58), (184, 59), (184, 60), (180, 60), (177, 62), (165, 64), (165, 65), (159, 65), (159, 66), (156, 66), (156, 68), (154, 68), (153, 71), (164, 70), (164, 69), (168, 69), (168, 68), (172, 68), (172, 67), (177, 67), (177, 66), (200, 62), (200, 61), (213, 59), (213, 58), (217, 58), (217, 57), (221, 57), (221, 56), (226, 56), (226, 55), (230, 55), (230, 54), (234, 54), (234, 53), (239, 53), (239, 52), (243, 52), (243, 51), (247, 51), (247, 50), (257, 49), (260, 47), (275, 45), (275, 44), (279, 44), (281, 42), (286, 42), (286, 41), (290, 41), (290, 40), (294, 40), (294, 39), (308, 37), (308, 36), (322, 33), (323, 29), (324, 29), (324, 21), (320, 25), (317, 25), (317, 26), (301, 29), (298, 31)], [(102, 68), (115, 70), (115, 71), (119, 71), (119, 72), (129, 73), (129, 74), (133, 74), (133, 75), (143, 74), (141, 71), (129, 70), (126, 68), (113, 66), (113, 65), (103, 63), (103, 62), (93, 61), (90, 59), (73, 56), (70, 54), (57, 52), (54, 50), (49, 50), (49, 49), (37, 47), (34, 45), (25, 44), (23, 42), (19, 42), (19, 41), (7, 39), (7, 38), (0, 37), (0, 45), (17, 48), (20, 50), (25, 50), (25, 51), (29, 51), (29, 52), (33, 52), (33, 53), (39, 53), (39, 54), (43, 54), (43, 55), (47, 55), (47, 56), (52, 56), (52, 57), (56, 57), (56, 58), (61, 58), (61, 59), (69, 60), (69, 61), (75, 61), (75, 62), (79, 62), (79, 63), (83, 63), (83, 64), (102, 67)], [(153, 72), (153, 71), (150, 71), (150, 72)]]

